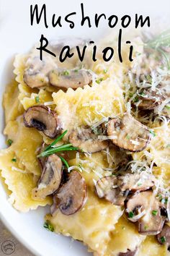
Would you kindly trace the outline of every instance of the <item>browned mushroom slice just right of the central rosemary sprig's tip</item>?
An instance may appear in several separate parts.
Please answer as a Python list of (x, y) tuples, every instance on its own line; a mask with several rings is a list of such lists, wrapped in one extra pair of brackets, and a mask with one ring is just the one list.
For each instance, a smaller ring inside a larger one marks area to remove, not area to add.
[(68, 137), (73, 147), (77, 147), (86, 153), (95, 153), (104, 150), (108, 146), (108, 141), (98, 140), (98, 136), (90, 128), (81, 127), (73, 129)]

